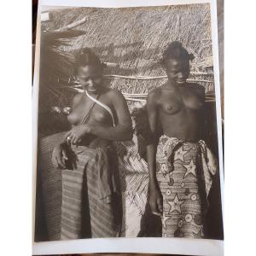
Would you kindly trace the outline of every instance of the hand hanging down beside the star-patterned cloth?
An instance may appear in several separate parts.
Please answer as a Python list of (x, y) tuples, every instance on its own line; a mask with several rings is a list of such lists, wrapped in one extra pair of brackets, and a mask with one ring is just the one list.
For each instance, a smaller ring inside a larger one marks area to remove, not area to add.
[(158, 186), (154, 186), (154, 188), (149, 188), (149, 205), (153, 214), (162, 216), (163, 196)]

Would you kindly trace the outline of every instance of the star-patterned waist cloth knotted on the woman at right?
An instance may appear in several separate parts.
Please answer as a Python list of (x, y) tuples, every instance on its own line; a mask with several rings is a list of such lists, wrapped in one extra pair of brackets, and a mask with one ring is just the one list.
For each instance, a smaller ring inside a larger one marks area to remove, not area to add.
[(204, 237), (203, 218), (218, 160), (204, 141), (160, 137), (156, 177), (163, 196), (162, 236)]

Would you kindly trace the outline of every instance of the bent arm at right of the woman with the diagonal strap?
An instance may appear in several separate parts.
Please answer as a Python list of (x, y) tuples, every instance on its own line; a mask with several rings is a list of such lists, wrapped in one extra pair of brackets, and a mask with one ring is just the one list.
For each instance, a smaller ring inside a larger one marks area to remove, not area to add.
[(117, 114), (117, 125), (114, 127), (102, 125), (86, 125), (88, 133), (111, 141), (127, 141), (132, 138), (131, 114), (127, 107), (125, 97), (119, 90), (111, 90), (113, 108)]

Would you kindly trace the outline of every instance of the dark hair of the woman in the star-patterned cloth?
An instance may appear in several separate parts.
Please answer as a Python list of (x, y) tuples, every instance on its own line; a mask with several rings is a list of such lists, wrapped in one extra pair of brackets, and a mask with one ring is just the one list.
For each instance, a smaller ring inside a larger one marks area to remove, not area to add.
[(168, 44), (163, 52), (162, 64), (165, 65), (166, 61), (170, 59), (183, 59), (187, 61), (192, 61), (194, 59), (193, 54), (189, 54), (187, 49), (183, 48), (183, 44), (178, 41), (173, 41)]

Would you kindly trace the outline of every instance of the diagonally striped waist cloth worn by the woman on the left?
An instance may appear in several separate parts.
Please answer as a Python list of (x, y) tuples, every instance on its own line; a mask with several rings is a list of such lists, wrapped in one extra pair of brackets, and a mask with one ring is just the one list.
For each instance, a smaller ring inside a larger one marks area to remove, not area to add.
[(112, 146), (71, 146), (61, 171), (61, 240), (119, 236), (117, 159)]

